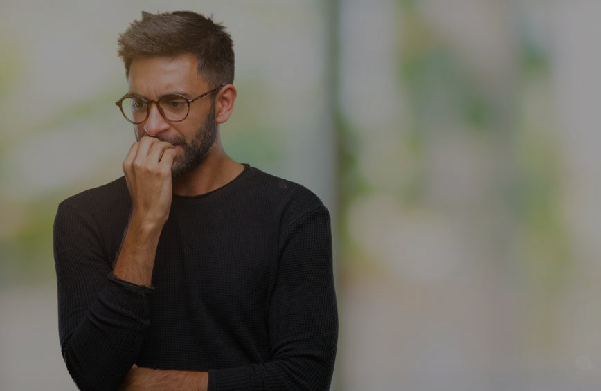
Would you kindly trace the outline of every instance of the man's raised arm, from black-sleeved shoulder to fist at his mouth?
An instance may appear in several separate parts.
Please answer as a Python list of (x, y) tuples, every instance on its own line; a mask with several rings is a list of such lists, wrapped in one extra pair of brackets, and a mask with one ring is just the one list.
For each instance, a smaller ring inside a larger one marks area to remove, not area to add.
[(171, 203), (174, 152), (169, 143), (143, 139), (123, 163), (133, 209), (114, 271), (88, 208), (63, 202), (55, 218), (61, 352), (83, 390), (116, 390), (150, 323), (150, 280)]

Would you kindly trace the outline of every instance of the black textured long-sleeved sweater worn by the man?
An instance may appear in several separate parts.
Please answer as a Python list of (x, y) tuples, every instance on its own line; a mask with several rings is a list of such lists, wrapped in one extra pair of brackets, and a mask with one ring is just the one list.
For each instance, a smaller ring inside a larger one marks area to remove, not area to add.
[(134, 363), (208, 371), (208, 390), (328, 390), (337, 348), (330, 214), (248, 164), (174, 195), (152, 287), (116, 278), (132, 208), (125, 176), (60, 203), (54, 223), (62, 356), (82, 390), (116, 390)]

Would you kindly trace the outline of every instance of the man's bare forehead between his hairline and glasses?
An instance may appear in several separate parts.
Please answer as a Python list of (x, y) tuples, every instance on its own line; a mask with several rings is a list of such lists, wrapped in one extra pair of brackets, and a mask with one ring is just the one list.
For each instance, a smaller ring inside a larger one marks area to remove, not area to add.
[(202, 89), (206, 81), (197, 71), (195, 55), (147, 57), (132, 60), (127, 83), (129, 91), (152, 96), (165, 91)]

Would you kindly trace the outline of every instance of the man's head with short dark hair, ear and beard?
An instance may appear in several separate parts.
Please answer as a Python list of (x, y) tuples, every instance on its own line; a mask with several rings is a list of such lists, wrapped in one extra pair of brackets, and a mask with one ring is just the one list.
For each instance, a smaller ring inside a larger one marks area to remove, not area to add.
[[(187, 174), (210, 154), (219, 140), (217, 124), (233, 109), (234, 57), (223, 26), (194, 12), (149, 14), (134, 21), (118, 39), (129, 94), (159, 100), (172, 93), (193, 99), (185, 120), (170, 122), (150, 104), (145, 122), (134, 125), (138, 137), (152, 136), (176, 146), (172, 176)], [(124, 108), (125, 109), (125, 108)]]

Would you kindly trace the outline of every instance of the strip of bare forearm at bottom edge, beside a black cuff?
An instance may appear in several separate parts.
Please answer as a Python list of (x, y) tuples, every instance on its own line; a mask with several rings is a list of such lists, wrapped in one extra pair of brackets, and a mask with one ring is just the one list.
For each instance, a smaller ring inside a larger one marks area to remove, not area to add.
[(152, 370), (134, 364), (118, 391), (206, 391), (207, 387), (207, 372)]

